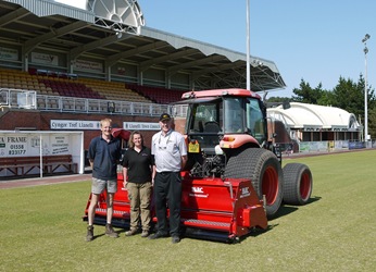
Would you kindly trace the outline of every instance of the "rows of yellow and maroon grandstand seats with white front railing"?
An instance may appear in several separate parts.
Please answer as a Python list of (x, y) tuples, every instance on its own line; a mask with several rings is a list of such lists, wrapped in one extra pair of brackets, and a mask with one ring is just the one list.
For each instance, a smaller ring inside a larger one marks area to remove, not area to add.
[[(68, 74), (29, 69), (28, 72), (0, 67), (0, 88), (16, 90), (35, 90), (37, 92), (37, 109), (53, 111), (104, 111), (106, 101), (133, 102), (135, 113), (148, 114), (149, 107), (145, 103), (168, 104), (180, 100), (183, 90), (161, 87), (139, 86), (118, 82), (104, 82), (95, 78), (79, 78)], [(74, 99), (72, 99), (74, 98)], [(124, 107), (115, 107), (124, 108)], [(160, 112), (151, 110), (158, 115)], [(123, 110), (123, 113), (130, 110)]]

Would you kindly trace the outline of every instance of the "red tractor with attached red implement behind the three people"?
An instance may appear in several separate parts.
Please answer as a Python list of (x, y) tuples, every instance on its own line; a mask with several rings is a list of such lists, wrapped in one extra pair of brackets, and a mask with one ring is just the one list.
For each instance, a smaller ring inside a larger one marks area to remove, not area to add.
[[(191, 91), (175, 107), (187, 111), (183, 133), (188, 163), (181, 171), (184, 236), (237, 242), (254, 228), (267, 228), (267, 218), (281, 203), (308, 203), (312, 173), (301, 163), (281, 168), (280, 150), (273, 144), (274, 122), (266, 116), (258, 94), (246, 89)], [(117, 129), (114, 136), (127, 140), (129, 132)], [(96, 210), (97, 224), (105, 224), (105, 212), (103, 194)], [(129, 201), (121, 173), (113, 225), (129, 225)]]

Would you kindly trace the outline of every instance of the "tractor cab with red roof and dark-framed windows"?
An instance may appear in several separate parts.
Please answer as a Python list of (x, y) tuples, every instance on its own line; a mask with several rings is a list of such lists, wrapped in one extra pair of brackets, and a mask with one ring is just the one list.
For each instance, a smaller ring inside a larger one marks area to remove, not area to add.
[(265, 109), (260, 96), (239, 89), (187, 92), (185, 135), (188, 164), (193, 176), (224, 173), (226, 162), (239, 148), (266, 147)]

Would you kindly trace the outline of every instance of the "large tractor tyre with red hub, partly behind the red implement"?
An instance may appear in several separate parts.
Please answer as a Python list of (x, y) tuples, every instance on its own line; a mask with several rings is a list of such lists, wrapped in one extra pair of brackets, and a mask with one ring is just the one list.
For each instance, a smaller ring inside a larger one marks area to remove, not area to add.
[(262, 148), (239, 150), (228, 159), (225, 177), (250, 178), (259, 199), (265, 196), (266, 215), (274, 215), (283, 200), (283, 171), (277, 157)]

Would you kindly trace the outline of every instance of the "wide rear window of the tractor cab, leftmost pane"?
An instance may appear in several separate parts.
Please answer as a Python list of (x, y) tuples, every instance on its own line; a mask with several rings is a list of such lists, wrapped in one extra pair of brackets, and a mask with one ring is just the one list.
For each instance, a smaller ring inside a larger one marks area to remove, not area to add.
[(192, 104), (192, 119), (189, 131), (191, 133), (214, 133), (222, 132), (223, 121), (220, 114), (222, 103), (220, 100), (213, 103)]

